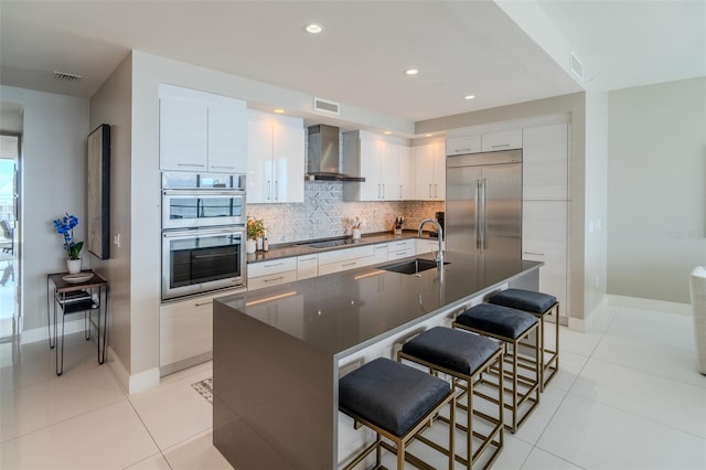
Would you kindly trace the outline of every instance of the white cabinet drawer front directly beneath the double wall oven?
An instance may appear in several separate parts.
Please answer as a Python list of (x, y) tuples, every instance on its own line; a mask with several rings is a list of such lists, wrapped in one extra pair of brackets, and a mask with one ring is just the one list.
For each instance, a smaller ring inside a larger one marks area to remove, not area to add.
[(199, 297), (159, 307), (159, 366), (167, 375), (211, 360), (213, 299)]

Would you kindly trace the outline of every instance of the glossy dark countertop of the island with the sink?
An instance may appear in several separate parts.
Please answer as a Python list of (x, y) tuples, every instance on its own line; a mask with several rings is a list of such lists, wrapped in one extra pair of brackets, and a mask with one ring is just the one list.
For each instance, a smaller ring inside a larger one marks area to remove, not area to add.
[[(371, 238), (375, 243), (386, 239)], [(289, 253), (293, 256), (293, 252)], [(400, 259), (215, 301), (343, 357), (442, 310), (463, 306), (543, 265), (456, 252), (447, 252), (446, 260), (449, 264), (442, 274), (437, 268), (416, 275), (381, 269), (405, 261)]]

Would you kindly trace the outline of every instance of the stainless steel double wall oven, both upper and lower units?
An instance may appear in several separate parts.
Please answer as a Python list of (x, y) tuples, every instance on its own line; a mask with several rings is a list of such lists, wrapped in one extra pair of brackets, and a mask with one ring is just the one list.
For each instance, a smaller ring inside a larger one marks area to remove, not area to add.
[(245, 287), (245, 175), (162, 173), (162, 300)]

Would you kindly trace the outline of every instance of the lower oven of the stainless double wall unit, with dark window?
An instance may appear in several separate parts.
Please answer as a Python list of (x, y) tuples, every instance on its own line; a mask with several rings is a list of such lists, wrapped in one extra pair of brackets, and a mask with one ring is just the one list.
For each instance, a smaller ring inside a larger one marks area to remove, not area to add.
[(245, 286), (245, 228), (162, 233), (162, 300)]

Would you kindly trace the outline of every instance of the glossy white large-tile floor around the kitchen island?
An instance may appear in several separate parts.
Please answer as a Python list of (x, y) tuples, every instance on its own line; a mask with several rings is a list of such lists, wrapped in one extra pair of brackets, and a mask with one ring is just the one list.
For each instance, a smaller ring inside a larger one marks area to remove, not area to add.
[[(126, 396), (93, 342), (0, 344), (0, 468), (229, 469), (211, 405), (191, 384), (211, 364)], [(494, 469), (705, 469), (706, 376), (692, 319), (608, 307), (593, 331), (561, 329), (561, 371)]]

